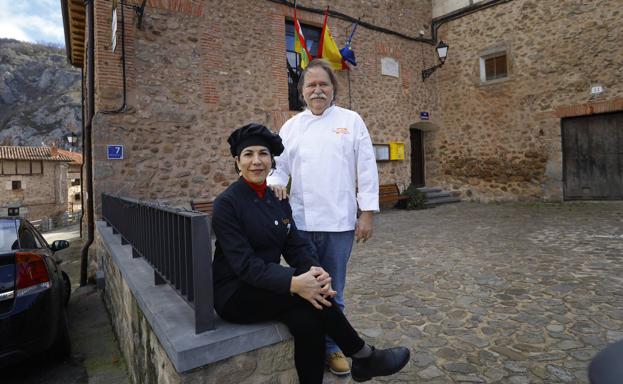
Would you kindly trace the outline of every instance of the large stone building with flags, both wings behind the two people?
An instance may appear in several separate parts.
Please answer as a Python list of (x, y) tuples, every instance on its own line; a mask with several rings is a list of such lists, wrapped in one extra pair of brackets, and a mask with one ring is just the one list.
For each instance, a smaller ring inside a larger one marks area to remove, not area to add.
[[(86, 78), (84, 2), (61, 3), (69, 60)], [(252, 121), (277, 131), (297, 113), (286, 67), (292, 2), (114, 3), (113, 12), (113, 1), (95, 2), (96, 209), (105, 191), (180, 206), (214, 198), (236, 179), (229, 132)], [(617, 0), (297, 4), (310, 35), (330, 5), (340, 46), (362, 17), (352, 43), (359, 65), (338, 73), (337, 104), (362, 115), (375, 144), (404, 144), (404, 160), (379, 161), (381, 183), (417, 181), (481, 201), (621, 198), (591, 193), (600, 189), (592, 163), (581, 164), (577, 144), (563, 151), (561, 135), (568, 118), (594, 115), (579, 123), (591, 125), (623, 110)], [(439, 40), (448, 58), (424, 80)], [(613, 121), (587, 135), (620, 134), (620, 114)], [(122, 145), (123, 159), (109, 159), (109, 145)], [(606, 172), (614, 191), (621, 165)]]

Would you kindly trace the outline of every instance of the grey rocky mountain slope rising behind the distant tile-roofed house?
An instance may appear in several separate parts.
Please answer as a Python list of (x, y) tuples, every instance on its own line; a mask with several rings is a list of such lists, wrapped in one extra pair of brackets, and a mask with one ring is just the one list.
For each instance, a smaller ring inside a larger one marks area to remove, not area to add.
[(64, 48), (0, 39), (0, 145), (67, 148), (81, 134), (80, 77)]

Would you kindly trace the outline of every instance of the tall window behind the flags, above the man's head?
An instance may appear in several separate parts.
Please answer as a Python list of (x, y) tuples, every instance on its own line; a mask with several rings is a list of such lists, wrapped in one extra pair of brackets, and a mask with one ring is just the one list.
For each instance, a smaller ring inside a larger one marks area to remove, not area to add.
[[(303, 36), (309, 54), (313, 57), (318, 55), (318, 40), (320, 40), (320, 28), (310, 27), (301, 24)], [(299, 99), (297, 85), (301, 75), (299, 67), (301, 58), (294, 51), (294, 21), (286, 20), (286, 65), (288, 69), (288, 104), (291, 111), (300, 111), (303, 109), (303, 103)]]

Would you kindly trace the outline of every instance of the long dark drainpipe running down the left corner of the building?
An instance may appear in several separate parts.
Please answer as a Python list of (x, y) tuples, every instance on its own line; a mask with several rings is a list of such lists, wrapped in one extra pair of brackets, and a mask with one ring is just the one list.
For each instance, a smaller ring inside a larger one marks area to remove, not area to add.
[[(87, 241), (82, 247), (80, 264), (80, 286), (87, 284), (87, 264), (89, 262), (89, 247), (93, 244), (95, 232), (95, 218), (93, 217), (93, 153), (91, 137), (93, 130), (93, 116), (95, 109), (95, 26), (93, 0), (87, 0), (87, 22), (89, 24), (89, 38), (87, 50), (87, 81), (88, 85), (88, 109), (84, 131), (84, 166), (86, 167), (87, 187)], [(83, 201), (84, 203), (84, 201)]]

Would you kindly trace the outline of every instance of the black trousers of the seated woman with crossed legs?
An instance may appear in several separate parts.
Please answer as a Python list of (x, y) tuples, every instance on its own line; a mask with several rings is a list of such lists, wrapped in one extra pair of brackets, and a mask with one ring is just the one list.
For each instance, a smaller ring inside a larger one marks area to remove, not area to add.
[(232, 323), (269, 320), (285, 323), (294, 337), (294, 365), (301, 384), (322, 384), (325, 335), (331, 336), (346, 356), (364, 346), (333, 301), (331, 307), (319, 310), (298, 295), (277, 294), (245, 285), (227, 301), (219, 315)]

